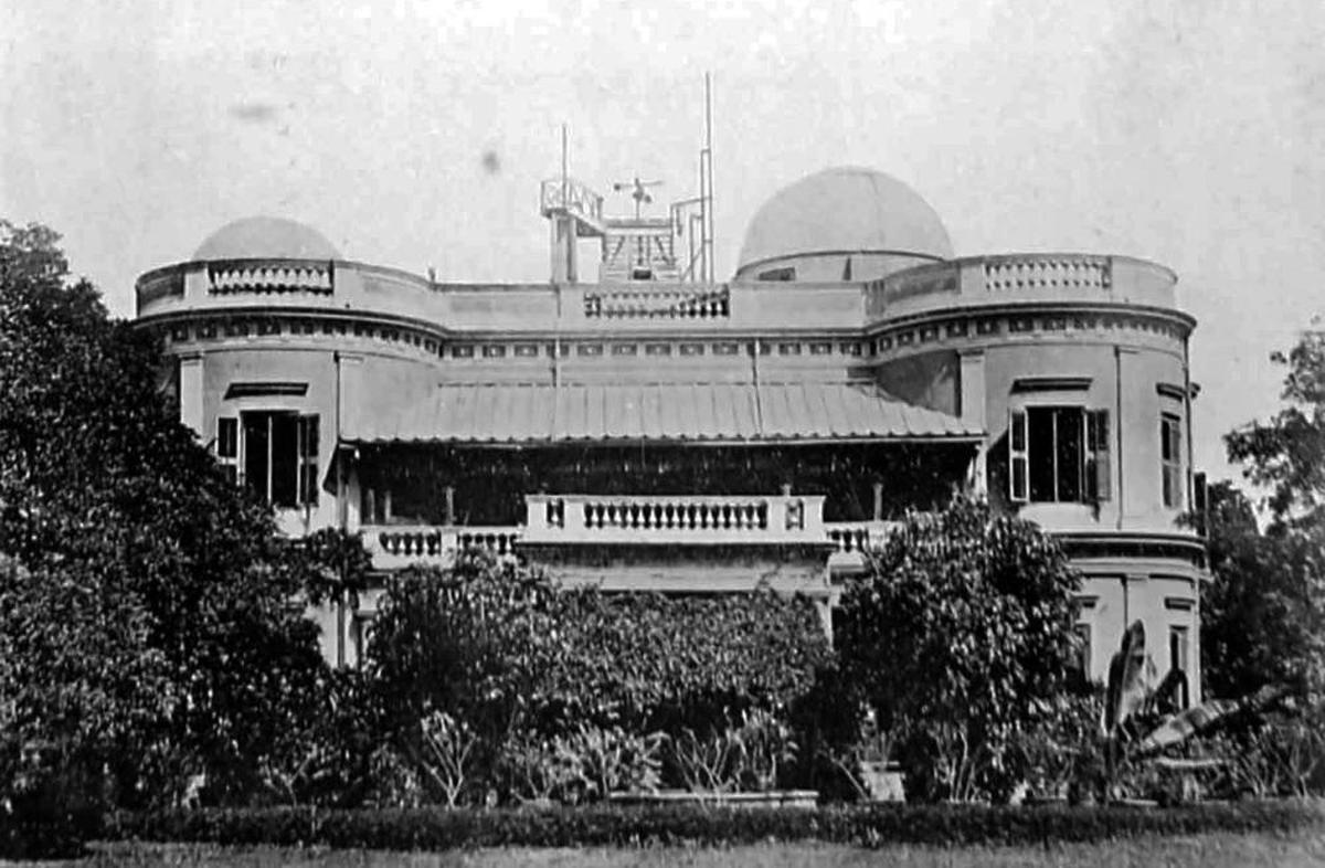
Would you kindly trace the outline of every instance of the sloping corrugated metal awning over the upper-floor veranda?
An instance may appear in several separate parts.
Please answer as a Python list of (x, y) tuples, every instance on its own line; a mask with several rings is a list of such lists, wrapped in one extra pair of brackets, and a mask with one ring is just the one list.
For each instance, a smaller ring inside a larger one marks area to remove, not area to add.
[(347, 420), (351, 443), (977, 440), (983, 432), (860, 383), (439, 386)]

